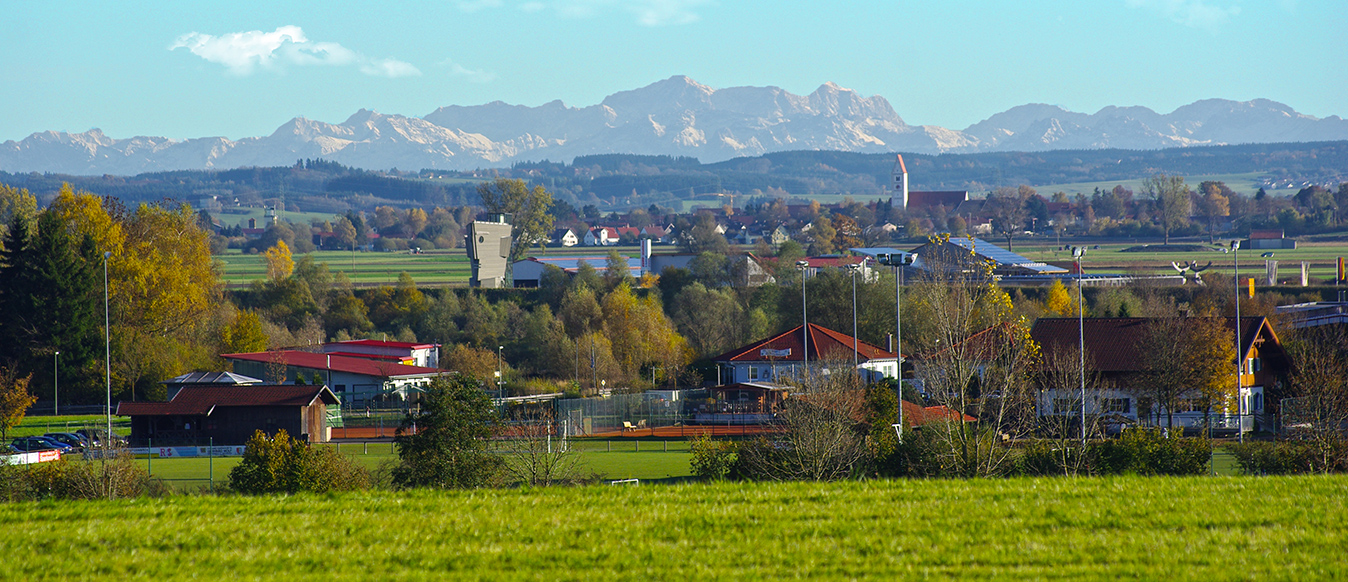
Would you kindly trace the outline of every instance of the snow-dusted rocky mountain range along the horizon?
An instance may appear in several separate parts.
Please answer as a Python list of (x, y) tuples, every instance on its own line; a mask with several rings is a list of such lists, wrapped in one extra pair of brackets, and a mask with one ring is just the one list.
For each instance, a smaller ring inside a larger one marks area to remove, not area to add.
[(972, 154), (1332, 140), (1348, 140), (1348, 120), (1301, 115), (1268, 100), (1202, 100), (1167, 115), (1144, 106), (1077, 113), (1030, 104), (960, 131), (909, 125), (884, 97), (832, 82), (797, 96), (775, 86), (713, 89), (671, 77), (584, 108), (495, 101), (443, 106), (423, 117), (361, 109), (340, 124), (297, 117), (268, 136), (240, 140), (49, 131), (0, 144), (0, 170), (135, 175), (318, 158), (369, 170), (474, 170), (592, 154), (720, 162), (798, 150)]

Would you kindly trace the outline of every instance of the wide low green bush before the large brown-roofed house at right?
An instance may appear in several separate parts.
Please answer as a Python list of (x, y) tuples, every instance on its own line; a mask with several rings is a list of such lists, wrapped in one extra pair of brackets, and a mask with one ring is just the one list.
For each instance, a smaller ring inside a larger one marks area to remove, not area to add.
[(1208, 472), (1212, 449), (1206, 439), (1166, 438), (1158, 428), (1136, 428), (1089, 445), (1088, 455), (1097, 474), (1193, 476)]

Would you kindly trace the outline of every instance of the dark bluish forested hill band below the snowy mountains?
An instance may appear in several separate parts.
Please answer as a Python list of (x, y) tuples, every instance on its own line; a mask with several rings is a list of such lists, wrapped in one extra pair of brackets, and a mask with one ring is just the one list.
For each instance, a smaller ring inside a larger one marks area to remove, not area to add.
[[(1348, 181), (1348, 141), (1246, 144), (1173, 150), (1060, 150), (1043, 152), (905, 154), (914, 190), (985, 191), (998, 186), (1042, 186), (1178, 175), (1259, 174), (1268, 185)], [(344, 213), (376, 205), (457, 206), (477, 203), (476, 185), (500, 175), (541, 183), (558, 199), (600, 209), (669, 205), (681, 199), (716, 201), (718, 194), (847, 194), (884, 197), (894, 154), (795, 151), (736, 158), (712, 164), (693, 158), (593, 155), (570, 164), (526, 162), (473, 172), (398, 172), (350, 168), (325, 160), (291, 167), (202, 170), (135, 176), (5, 174), (0, 183), (23, 187), (39, 199), (62, 183), (128, 203), (177, 199), (193, 206), (257, 205), (280, 201), (287, 209)]]

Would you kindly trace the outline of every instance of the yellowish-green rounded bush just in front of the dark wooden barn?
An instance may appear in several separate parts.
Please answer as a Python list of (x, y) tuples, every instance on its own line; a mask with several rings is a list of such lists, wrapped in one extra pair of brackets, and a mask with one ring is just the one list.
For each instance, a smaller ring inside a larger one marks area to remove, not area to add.
[(275, 438), (253, 432), (244, 458), (229, 472), (229, 488), (240, 493), (298, 493), (355, 490), (369, 486), (365, 469), (333, 449), (314, 449), (290, 438), (284, 430)]

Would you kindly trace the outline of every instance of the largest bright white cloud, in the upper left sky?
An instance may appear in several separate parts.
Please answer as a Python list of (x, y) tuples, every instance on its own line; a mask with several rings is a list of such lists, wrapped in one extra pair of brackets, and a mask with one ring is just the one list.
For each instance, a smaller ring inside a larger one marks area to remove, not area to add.
[(415, 77), (421, 71), (398, 59), (365, 57), (330, 42), (311, 42), (297, 26), (283, 26), (272, 32), (247, 31), (213, 36), (187, 32), (178, 36), (168, 50), (187, 48), (209, 62), (224, 65), (236, 75), (252, 74), (256, 69), (293, 66), (355, 66), (364, 74), (376, 77)]

